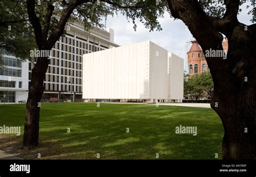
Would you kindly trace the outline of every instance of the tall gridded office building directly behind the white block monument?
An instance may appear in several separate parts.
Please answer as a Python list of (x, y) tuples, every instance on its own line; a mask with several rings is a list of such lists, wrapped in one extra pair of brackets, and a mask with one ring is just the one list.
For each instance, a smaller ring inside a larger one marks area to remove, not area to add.
[(74, 23), (66, 26), (66, 32), (51, 51), (44, 81), (43, 101), (50, 98), (82, 101), (83, 54), (119, 46), (113, 42), (112, 29), (105, 31), (93, 28), (90, 33), (85, 33), (83, 25)]

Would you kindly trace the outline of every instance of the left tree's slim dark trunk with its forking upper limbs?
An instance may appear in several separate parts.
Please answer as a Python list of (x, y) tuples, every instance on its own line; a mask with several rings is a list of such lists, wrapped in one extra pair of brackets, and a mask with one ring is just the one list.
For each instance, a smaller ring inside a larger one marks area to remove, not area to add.
[[(39, 50), (51, 50), (53, 45), (57, 42), (60, 36), (63, 35), (66, 22), (73, 12), (73, 10), (85, 1), (72, 1), (67, 8), (64, 9), (60, 16), (57, 27), (49, 35), (52, 12), (55, 8), (51, 3), (48, 3), (47, 13), (45, 14), (45, 21), (42, 29), (40, 19), (37, 17), (35, 10), (35, 0), (26, 0), (29, 21), (33, 26), (35, 32), (36, 44)], [(26, 117), (24, 125), (23, 148), (30, 149), (38, 146), (39, 135), (39, 114), (40, 103), (43, 94), (44, 76), (48, 69), (48, 58), (37, 58), (37, 63), (32, 69), (31, 86), (29, 88), (29, 97), (26, 103)]]

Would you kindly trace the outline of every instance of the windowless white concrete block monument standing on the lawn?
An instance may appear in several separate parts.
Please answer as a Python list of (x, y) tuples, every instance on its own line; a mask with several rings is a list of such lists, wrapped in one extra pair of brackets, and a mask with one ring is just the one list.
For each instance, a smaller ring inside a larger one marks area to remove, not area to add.
[(83, 99), (181, 102), (183, 59), (150, 41), (87, 53)]

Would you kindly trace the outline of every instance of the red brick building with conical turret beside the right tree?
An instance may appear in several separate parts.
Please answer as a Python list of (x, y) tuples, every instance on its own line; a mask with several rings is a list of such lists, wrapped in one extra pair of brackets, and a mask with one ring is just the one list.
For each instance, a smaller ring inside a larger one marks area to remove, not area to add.
[[(204, 57), (203, 50), (197, 43), (197, 40), (191, 41), (192, 46), (187, 52), (187, 64), (189, 74), (200, 74), (202, 72), (208, 71), (208, 65)], [(225, 37), (223, 41), (224, 51), (228, 50), (228, 40)]]

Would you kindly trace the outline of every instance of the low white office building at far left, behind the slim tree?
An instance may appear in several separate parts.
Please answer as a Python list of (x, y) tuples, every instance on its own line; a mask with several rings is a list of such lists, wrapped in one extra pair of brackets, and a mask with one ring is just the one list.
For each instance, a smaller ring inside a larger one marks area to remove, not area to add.
[(28, 98), (29, 62), (22, 62), (0, 49), (4, 67), (0, 69), (0, 103), (25, 102)]

